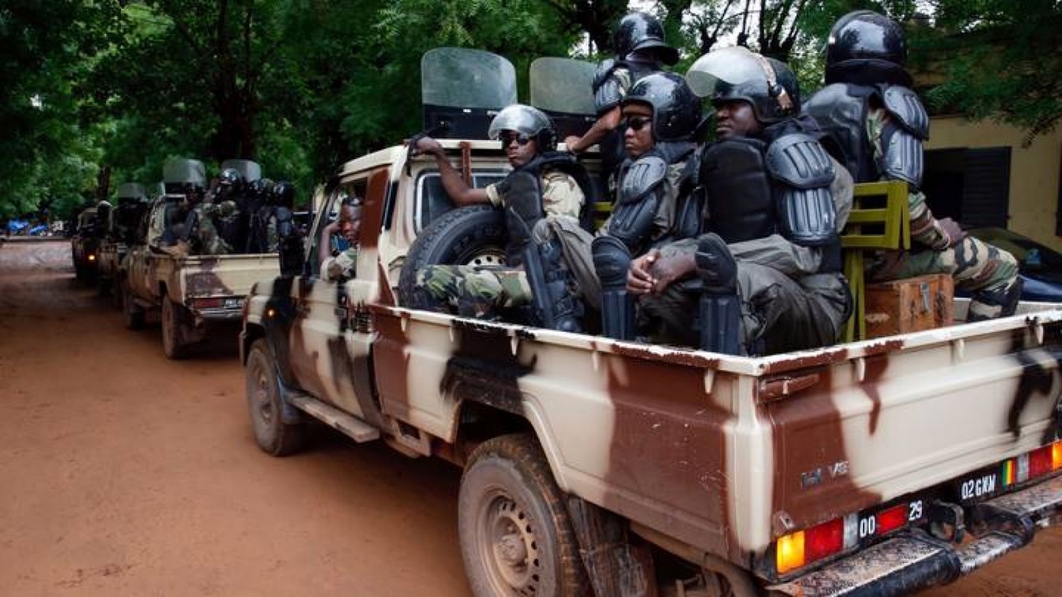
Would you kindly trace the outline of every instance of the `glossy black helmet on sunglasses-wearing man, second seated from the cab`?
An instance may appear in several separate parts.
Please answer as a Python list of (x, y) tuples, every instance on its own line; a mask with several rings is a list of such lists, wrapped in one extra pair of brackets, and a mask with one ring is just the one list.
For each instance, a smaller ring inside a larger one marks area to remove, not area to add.
[(682, 76), (656, 72), (637, 81), (623, 98), (623, 105), (648, 104), (653, 109), (653, 139), (689, 141), (701, 124), (701, 99)]

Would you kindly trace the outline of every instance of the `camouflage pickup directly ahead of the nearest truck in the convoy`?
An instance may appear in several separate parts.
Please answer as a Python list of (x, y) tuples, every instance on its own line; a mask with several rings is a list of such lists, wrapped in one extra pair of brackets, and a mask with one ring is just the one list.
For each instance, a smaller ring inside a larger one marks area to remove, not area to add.
[[(195, 160), (184, 161), (178, 165), (185, 171), (202, 168), (187, 163)], [(170, 164), (169, 170), (182, 169)], [(166, 185), (202, 178), (177, 172), (167, 177)], [(137, 330), (149, 315), (158, 316), (168, 358), (185, 357), (212, 327), (238, 323), (252, 284), (279, 271), (276, 253), (181, 256), (162, 250), (157, 240), (150, 238), (151, 230), (165, 228), (167, 211), (182, 198), (164, 194), (155, 200), (141, 223), (139, 243), (127, 249), (118, 267), (125, 327)]]

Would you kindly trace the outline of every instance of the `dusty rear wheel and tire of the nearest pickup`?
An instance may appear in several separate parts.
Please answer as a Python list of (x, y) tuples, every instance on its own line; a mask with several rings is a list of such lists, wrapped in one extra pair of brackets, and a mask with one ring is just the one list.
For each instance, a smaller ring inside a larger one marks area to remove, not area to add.
[(529, 435), (497, 437), (473, 453), (458, 532), (477, 597), (590, 594), (564, 494)]

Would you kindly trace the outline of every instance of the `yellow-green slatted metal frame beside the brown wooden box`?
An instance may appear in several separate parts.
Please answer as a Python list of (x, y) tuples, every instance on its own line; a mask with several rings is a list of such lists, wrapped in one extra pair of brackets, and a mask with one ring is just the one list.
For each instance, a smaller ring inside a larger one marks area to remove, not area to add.
[[(867, 283), (863, 271), (868, 250), (900, 250), (911, 248), (911, 220), (907, 207), (907, 183), (901, 180), (861, 182), (855, 186), (852, 213), (841, 234), (844, 248), (844, 276), (849, 279), (854, 305), (852, 317), (844, 326), (844, 341), (867, 338)], [(876, 198), (884, 207), (862, 207)], [(864, 228), (874, 227), (871, 232)]]

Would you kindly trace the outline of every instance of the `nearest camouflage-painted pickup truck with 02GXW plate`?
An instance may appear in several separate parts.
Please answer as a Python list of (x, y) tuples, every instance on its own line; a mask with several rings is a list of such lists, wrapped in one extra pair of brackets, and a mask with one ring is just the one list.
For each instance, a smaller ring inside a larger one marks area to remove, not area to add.
[[(506, 171), (497, 142), (443, 144), (474, 185)], [(463, 468), (477, 596), (904, 595), (1056, 521), (1062, 305), (966, 323), (957, 299), (947, 327), (761, 357), (409, 309), (411, 271), (500, 259), (502, 225), (407, 150), (341, 169), (240, 356), (264, 452), (316, 420)], [(331, 281), (318, 233), (352, 194), (356, 276)]]

